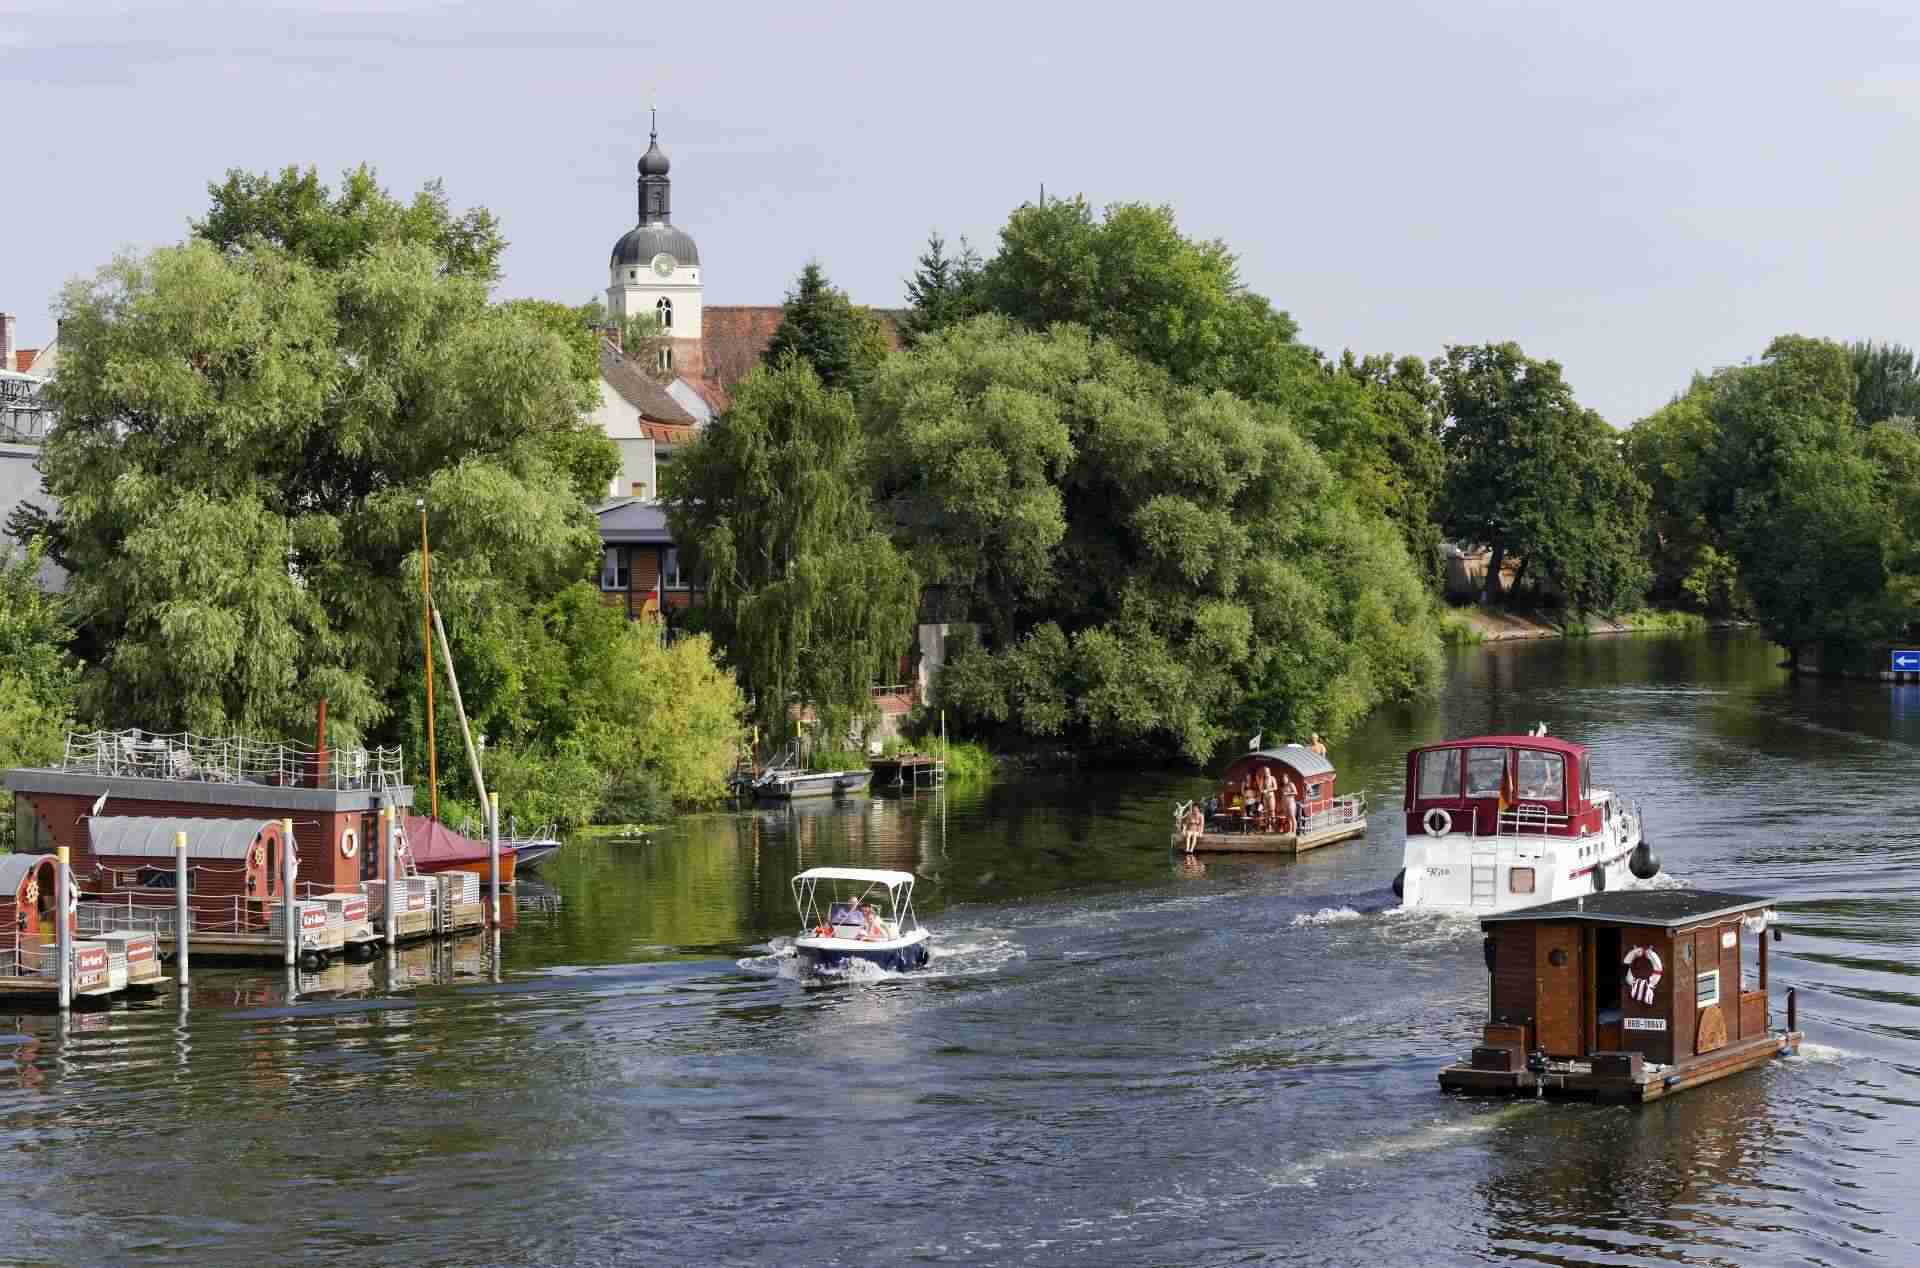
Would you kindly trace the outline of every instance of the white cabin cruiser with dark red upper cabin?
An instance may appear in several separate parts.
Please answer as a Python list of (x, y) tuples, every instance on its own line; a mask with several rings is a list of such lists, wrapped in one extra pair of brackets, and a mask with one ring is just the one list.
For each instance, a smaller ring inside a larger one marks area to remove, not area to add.
[(1661, 863), (1628, 807), (1594, 786), (1586, 745), (1475, 736), (1407, 753), (1407, 907), (1494, 913), (1651, 880)]

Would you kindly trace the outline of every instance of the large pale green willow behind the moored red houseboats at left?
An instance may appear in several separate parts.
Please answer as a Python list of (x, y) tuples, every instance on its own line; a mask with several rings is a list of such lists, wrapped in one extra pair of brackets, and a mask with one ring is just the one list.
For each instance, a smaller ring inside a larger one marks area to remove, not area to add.
[(90, 717), (300, 734), (324, 695), (342, 740), (403, 734), (417, 500), (436, 599), (467, 634), (520, 622), (599, 553), (588, 500), (616, 455), (582, 417), (578, 340), (490, 305), (465, 248), (369, 232), (340, 250), (313, 217), (290, 225), (286, 246), (248, 231), (119, 259), (61, 300), (42, 473), (102, 649)]

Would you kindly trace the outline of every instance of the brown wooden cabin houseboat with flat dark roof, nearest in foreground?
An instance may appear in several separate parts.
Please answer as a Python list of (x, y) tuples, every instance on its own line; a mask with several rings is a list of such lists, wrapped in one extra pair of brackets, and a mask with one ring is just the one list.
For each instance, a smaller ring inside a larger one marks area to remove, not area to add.
[(1797, 1051), (1793, 991), (1768, 1028), (1770, 903), (1628, 890), (1482, 916), (1492, 1009), (1440, 1085), (1653, 1101)]

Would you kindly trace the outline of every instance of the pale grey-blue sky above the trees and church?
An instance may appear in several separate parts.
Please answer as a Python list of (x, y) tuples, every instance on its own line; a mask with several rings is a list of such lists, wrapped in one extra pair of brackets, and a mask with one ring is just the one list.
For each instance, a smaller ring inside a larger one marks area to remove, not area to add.
[(0, 0), (0, 309), (184, 236), (230, 167), (484, 204), (584, 302), (659, 104), (708, 304), (806, 259), (895, 305), (929, 231), (1173, 206), (1338, 352), (1517, 340), (1619, 427), (1784, 332), (1920, 342), (1920, 6)]

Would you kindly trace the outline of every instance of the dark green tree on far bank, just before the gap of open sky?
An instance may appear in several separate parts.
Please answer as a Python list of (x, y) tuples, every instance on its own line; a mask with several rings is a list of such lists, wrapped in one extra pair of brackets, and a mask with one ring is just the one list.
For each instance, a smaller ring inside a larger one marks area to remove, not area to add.
[(1647, 490), (1619, 434), (1574, 402), (1559, 363), (1517, 344), (1453, 346), (1432, 373), (1452, 419), (1440, 519), (1455, 540), (1492, 549), (1488, 597), (1513, 553), (1576, 609), (1611, 613), (1640, 599)]

